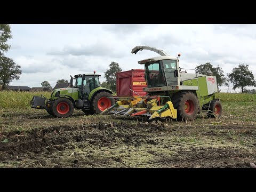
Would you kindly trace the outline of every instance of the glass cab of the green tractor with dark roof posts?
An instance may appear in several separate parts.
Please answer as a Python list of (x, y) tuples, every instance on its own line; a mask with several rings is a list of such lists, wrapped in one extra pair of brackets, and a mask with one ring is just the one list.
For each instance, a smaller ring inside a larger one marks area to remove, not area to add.
[(83, 95), (83, 99), (88, 99), (91, 91), (100, 87), (99, 76), (98, 74), (75, 75), (74, 78), (71, 77), (70, 85), (73, 85), (73, 79), (75, 79), (74, 88), (79, 89), (79, 98)]

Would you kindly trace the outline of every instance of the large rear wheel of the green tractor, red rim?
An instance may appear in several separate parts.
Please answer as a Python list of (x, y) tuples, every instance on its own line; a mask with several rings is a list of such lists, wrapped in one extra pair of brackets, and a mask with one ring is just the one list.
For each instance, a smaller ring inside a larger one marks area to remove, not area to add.
[[(106, 92), (106, 91), (101, 91), (94, 95), (94, 97), (91, 100), (91, 113), (92, 114), (100, 114), (103, 111), (103, 109), (106, 109), (110, 106), (115, 105), (115, 103), (116, 103), (115, 99), (107, 98), (107, 97), (113, 97), (113, 95), (111, 95), (109, 92)], [(99, 103), (99, 105), (98, 105), (98, 101), (103, 101), (103, 102)]]

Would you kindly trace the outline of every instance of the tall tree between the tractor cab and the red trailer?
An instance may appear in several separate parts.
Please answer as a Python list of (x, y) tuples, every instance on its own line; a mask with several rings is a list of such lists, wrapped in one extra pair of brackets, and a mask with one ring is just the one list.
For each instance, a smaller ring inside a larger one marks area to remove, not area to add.
[(110, 89), (116, 91), (116, 73), (121, 72), (122, 69), (119, 67), (119, 64), (115, 61), (112, 61), (109, 64), (109, 69), (105, 72), (105, 78)]

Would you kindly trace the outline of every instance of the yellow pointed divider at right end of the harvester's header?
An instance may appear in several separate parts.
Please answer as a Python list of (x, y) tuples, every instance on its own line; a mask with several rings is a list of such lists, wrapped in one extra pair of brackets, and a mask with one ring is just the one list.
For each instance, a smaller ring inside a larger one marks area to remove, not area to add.
[(175, 119), (175, 118), (177, 118), (177, 109), (174, 109), (171, 101), (167, 101), (166, 104), (164, 105), (164, 107), (155, 111), (149, 117), (149, 119), (153, 119), (156, 117), (171, 117), (171, 118)]

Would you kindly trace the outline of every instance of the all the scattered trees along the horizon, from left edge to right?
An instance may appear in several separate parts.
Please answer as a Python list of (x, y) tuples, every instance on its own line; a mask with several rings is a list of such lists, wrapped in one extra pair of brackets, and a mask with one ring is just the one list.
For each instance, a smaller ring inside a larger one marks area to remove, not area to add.
[[(13, 59), (5, 57), (4, 53), (10, 50), (10, 45), (7, 44), (8, 39), (12, 38), (11, 27), (9, 24), (0, 24), (0, 85), (2, 89), (6, 88), (6, 85), (13, 79), (19, 79), (22, 71), (21, 66), (17, 65)], [(220, 66), (213, 67), (210, 62), (206, 62), (195, 68), (196, 73), (216, 76), (218, 91), (221, 85), (226, 85), (229, 87), (230, 83), (233, 84), (233, 90), (241, 88), (241, 92), (244, 93), (255, 93), (256, 90), (247, 90), (246, 86), (256, 86), (254, 76), (252, 71), (249, 69), (249, 65), (239, 63), (238, 67), (235, 67), (231, 73), (224, 75), (224, 72)], [(102, 82), (101, 85), (105, 86), (107, 89), (116, 92), (116, 73), (122, 71), (119, 64), (112, 61), (109, 65), (109, 69), (105, 72), (106, 81)], [(58, 83), (68, 83), (65, 79), (59, 79)], [(43, 87), (51, 87), (50, 83), (43, 81), (41, 83)]]

